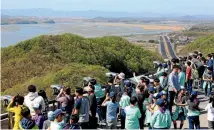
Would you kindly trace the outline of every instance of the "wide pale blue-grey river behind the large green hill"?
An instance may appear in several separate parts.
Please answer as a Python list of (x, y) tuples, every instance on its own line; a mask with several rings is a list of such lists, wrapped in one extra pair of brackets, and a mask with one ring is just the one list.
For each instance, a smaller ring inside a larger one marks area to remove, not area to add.
[(14, 24), (1, 25), (1, 46), (7, 47), (39, 35), (74, 33), (84, 37), (157, 34), (169, 30), (144, 30), (139, 27), (97, 26), (94, 23)]

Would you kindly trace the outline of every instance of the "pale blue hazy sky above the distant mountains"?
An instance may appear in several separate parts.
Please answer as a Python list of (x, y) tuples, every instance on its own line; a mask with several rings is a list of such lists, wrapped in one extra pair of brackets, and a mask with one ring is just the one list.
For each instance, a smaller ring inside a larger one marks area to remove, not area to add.
[(214, 14), (214, 0), (1, 0), (2, 9), (49, 8), (54, 10), (100, 10)]

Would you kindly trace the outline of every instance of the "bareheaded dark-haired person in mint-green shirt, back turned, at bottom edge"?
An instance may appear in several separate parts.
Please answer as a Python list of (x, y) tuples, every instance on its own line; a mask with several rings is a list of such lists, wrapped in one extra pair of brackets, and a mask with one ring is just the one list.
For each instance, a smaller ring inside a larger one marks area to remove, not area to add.
[(130, 105), (125, 108), (126, 121), (125, 129), (140, 129), (139, 118), (141, 117), (141, 112), (137, 106), (137, 98), (135, 96), (131, 97)]

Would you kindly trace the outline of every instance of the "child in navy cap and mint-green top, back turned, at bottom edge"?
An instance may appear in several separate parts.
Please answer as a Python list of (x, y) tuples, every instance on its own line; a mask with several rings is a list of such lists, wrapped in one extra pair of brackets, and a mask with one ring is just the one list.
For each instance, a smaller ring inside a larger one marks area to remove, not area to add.
[(164, 107), (164, 100), (158, 99), (156, 105), (158, 106), (158, 110), (152, 115), (151, 127), (153, 129), (170, 129), (172, 123), (171, 114)]

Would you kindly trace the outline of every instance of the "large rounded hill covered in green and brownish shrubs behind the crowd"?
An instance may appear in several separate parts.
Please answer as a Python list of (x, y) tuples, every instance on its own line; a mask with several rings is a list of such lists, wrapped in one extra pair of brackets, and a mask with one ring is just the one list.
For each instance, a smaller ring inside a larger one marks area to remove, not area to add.
[(44, 35), (2, 48), (2, 92), (25, 93), (29, 84), (45, 89), (64, 80), (65, 86), (81, 86), (84, 76), (106, 81), (105, 72), (130, 75), (152, 70), (161, 58), (121, 37), (84, 38), (73, 34)]

